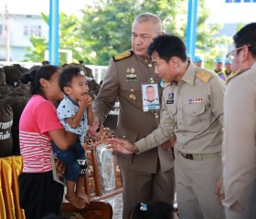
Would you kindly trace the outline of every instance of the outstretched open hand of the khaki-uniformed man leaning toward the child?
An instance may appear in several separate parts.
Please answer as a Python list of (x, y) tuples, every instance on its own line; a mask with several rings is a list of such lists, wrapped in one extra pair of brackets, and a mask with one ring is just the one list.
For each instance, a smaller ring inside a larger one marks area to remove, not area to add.
[(118, 151), (125, 154), (132, 154), (133, 152), (138, 152), (137, 146), (127, 140), (108, 139), (105, 141), (105, 143), (109, 144), (106, 148), (112, 149), (113, 151)]

